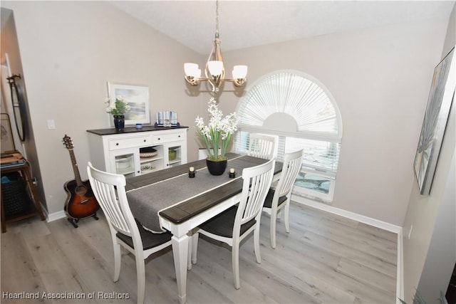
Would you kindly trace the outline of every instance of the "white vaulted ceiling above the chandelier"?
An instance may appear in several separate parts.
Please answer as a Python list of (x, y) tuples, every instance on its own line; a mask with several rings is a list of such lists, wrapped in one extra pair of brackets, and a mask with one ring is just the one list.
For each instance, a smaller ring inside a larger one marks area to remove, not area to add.
[[(215, 33), (215, 1), (109, 1), (201, 54)], [(455, 1), (219, 1), (222, 51), (430, 18)]]

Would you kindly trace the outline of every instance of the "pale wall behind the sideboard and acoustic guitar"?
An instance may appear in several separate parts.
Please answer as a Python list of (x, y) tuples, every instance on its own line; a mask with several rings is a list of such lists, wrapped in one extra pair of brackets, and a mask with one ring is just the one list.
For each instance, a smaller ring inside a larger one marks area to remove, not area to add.
[[(147, 85), (152, 115), (176, 110), (190, 126), (189, 160), (197, 158), (192, 125), (199, 98), (188, 98), (185, 61), (203, 61), (170, 38), (104, 1), (2, 1), (14, 11), (46, 209), (63, 210), (63, 184), (74, 178), (62, 138), (73, 139), (81, 177), (90, 159), (86, 130), (109, 127), (106, 82)], [(204, 103), (201, 103), (204, 109)], [(48, 130), (47, 120), (56, 122)]]

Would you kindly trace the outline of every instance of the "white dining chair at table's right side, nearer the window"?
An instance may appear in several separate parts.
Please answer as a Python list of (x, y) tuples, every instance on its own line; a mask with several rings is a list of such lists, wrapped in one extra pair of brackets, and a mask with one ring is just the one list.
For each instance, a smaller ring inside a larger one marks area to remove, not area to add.
[[(276, 187), (271, 187), (264, 201), (263, 211), (271, 216), (271, 247), (276, 248), (276, 219), (281, 209), (284, 209), (285, 230), (290, 232), (289, 210), (290, 196), (294, 182), (302, 167), (302, 155), (304, 149), (289, 152), (284, 155), (284, 167), (282, 168), (279, 182)], [(274, 182), (275, 184), (275, 182)]]

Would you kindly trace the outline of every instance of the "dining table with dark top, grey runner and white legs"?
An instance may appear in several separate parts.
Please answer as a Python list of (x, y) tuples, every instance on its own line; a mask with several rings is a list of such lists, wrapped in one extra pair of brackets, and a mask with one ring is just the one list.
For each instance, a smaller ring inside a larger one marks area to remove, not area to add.
[[(125, 190), (135, 219), (152, 232), (170, 231), (172, 234), (172, 255), (181, 304), (187, 301), (192, 230), (239, 203), (242, 169), (269, 160), (235, 153), (226, 156), (227, 170), (219, 176), (209, 174), (206, 160), (200, 159), (126, 179)], [(275, 177), (282, 165), (276, 162)]]

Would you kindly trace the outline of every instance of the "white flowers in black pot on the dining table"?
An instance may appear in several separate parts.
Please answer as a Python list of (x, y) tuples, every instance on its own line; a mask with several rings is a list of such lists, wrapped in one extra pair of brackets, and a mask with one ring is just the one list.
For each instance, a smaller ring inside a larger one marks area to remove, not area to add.
[[(237, 115), (236, 113), (230, 113), (229, 115), (223, 117), (222, 111), (219, 110), (217, 101), (215, 98), (209, 100), (207, 111), (209, 112), (209, 123), (204, 125), (204, 119), (202, 117), (197, 117), (196, 129), (197, 134), (204, 147), (207, 150), (207, 168), (209, 172), (211, 169), (212, 162), (218, 162), (217, 166), (223, 167), (223, 171), (211, 172), (214, 175), (223, 174), (224, 170), (227, 167), (227, 157), (225, 156), (229, 144), (233, 140), (234, 132), (237, 131)], [(219, 169), (221, 171), (222, 168)]]

